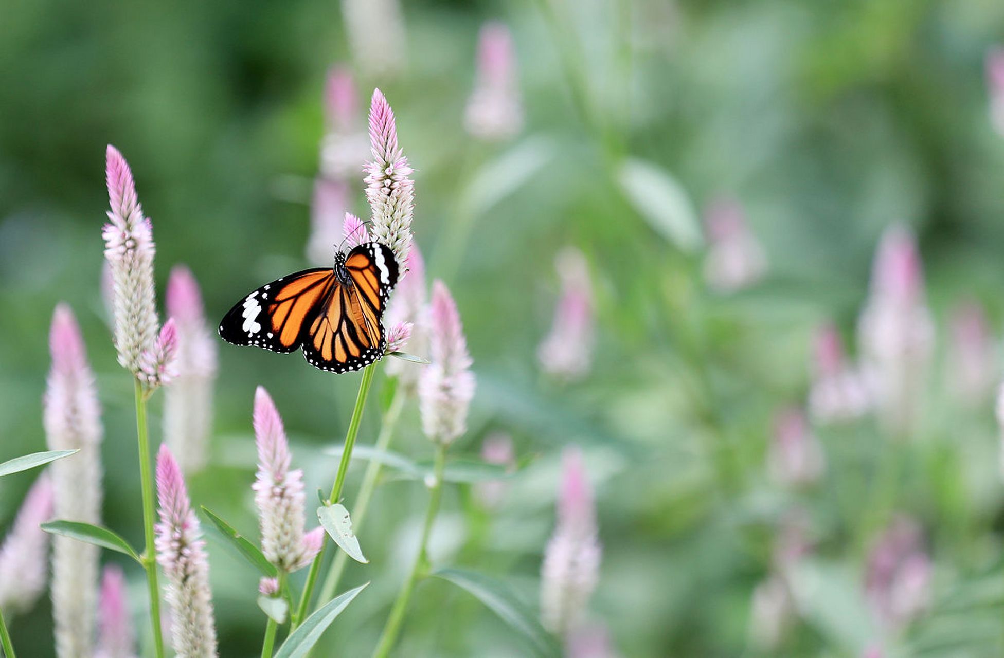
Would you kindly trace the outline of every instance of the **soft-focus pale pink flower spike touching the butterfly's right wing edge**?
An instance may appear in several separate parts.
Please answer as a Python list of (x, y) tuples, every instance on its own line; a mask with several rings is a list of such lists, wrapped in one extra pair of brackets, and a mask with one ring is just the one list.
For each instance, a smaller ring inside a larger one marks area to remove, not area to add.
[[(386, 322), (392, 326), (403, 322), (412, 323), (411, 336), (399, 349), (410, 354), (427, 356), (429, 353), (429, 318), (426, 302), (429, 293), (426, 284), (426, 265), (422, 260), (418, 245), (412, 245), (408, 251), (405, 266), (407, 274), (391, 294), (391, 301), (385, 316)], [(399, 385), (403, 390), (412, 395), (417, 392), (419, 376), (425, 366), (401, 359), (391, 359), (387, 361), (385, 367), (389, 375), (398, 377)]]

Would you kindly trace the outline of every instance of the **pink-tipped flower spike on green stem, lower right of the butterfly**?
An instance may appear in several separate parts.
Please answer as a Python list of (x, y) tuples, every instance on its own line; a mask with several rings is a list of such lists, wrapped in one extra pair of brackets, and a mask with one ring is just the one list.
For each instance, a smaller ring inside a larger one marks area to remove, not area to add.
[(432, 440), (451, 443), (466, 429), (475, 381), (460, 313), (442, 281), (433, 284), (429, 320), (432, 363), (419, 379), (422, 428)]

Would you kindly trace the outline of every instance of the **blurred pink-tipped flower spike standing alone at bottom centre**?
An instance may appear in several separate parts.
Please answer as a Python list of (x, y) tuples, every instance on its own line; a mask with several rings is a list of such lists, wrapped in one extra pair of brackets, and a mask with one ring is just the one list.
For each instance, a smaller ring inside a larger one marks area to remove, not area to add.
[(540, 614), (545, 628), (566, 638), (581, 622), (595, 589), (601, 551), (582, 455), (569, 448), (562, 461), (557, 526), (540, 572)]

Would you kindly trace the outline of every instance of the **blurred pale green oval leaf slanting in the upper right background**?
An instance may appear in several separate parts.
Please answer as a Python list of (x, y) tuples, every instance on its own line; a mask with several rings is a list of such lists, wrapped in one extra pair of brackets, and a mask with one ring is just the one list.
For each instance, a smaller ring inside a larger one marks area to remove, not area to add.
[(690, 197), (676, 179), (662, 168), (629, 157), (617, 172), (617, 181), (635, 210), (656, 233), (681, 251), (693, 252), (704, 242)]

